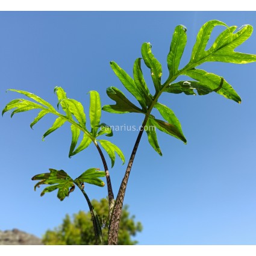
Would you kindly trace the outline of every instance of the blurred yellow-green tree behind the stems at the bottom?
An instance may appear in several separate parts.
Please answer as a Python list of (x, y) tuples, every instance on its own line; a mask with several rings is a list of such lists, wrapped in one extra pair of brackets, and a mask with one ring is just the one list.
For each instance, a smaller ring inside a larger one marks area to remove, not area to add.
[[(103, 198), (101, 201), (92, 200), (92, 205), (98, 213), (99, 221), (102, 226), (102, 236), (104, 245), (108, 244), (108, 200)], [(132, 240), (137, 232), (142, 231), (142, 223), (134, 221), (134, 215), (130, 216), (128, 205), (122, 210), (119, 229), (119, 245), (136, 245), (138, 242)], [(90, 211), (79, 211), (73, 214), (73, 219), (66, 214), (63, 223), (46, 231), (43, 236), (45, 245), (95, 245), (95, 236), (93, 233), (93, 223)]]

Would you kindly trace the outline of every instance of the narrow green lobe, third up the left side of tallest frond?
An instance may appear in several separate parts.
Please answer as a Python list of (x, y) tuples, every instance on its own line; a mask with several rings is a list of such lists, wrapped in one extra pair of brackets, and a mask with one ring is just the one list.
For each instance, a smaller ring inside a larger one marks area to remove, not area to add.
[(134, 82), (136, 84), (139, 94), (143, 97), (144, 102), (147, 106), (152, 103), (152, 95), (149, 93), (148, 86), (146, 85), (145, 79), (143, 77), (142, 68), (140, 66), (142, 58), (137, 58), (133, 66), (133, 76)]

